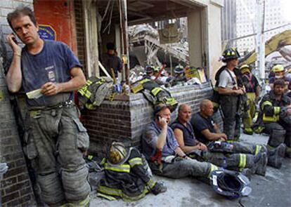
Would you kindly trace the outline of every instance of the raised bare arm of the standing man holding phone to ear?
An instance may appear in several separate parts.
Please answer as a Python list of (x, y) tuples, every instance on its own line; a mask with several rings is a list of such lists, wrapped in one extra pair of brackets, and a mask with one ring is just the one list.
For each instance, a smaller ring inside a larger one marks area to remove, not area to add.
[(9, 46), (11, 46), (13, 51), (13, 59), (11, 65), (6, 74), (6, 81), (8, 90), (12, 93), (16, 93), (20, 90), (22, 84), (22, 74), (21, 74), (21, 48), (18, 44), (13, 41), (15, 36), (13, 34), (8, 34), (7, 41)]

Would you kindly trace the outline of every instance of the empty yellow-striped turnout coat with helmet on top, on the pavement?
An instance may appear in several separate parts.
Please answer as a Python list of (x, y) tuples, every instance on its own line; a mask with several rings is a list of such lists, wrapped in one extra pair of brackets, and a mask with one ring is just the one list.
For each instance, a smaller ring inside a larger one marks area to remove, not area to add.
[(167, 191), (167, 187), (153, 180), (148, 163), (138, 149), (122, 142), (112, 142), (104, 171), (105, 178), (101, 179), (97, 191), (106, 199), (120, 197), (124, 201), (137, 201), (148, 192), (157, 195)]

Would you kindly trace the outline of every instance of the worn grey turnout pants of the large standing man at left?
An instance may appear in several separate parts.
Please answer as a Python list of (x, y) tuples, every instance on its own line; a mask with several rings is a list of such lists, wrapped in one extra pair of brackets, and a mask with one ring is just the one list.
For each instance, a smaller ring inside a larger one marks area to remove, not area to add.
[(89, 147), (89, 136), (77, 107), (30, 109), (27, 126), (24, 150), (44, 202), (60, 206), (86, 200), (91, 187), (83, 153)]

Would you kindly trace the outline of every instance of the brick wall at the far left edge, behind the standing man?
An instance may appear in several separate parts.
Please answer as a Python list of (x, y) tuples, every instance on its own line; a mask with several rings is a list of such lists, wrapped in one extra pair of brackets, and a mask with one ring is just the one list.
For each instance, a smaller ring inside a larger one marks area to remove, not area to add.
[(32, 6), (32, 0), (0, 1), (0, 162), (8, 163), (9, 167), (1, 181), (2, 206), (32, 206), (35, 203), (3, 69), (4, 65), (8, 65), (11, 49), (1, 33), (11, 33), (6, 15), (19, 4)]

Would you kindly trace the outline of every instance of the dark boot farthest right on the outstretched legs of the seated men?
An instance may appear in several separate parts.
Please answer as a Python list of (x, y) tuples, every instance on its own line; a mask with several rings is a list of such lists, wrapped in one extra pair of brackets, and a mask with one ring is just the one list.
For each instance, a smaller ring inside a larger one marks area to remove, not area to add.
[(280, 169), (285, 155), (285, 144), (280, 144), (278, 147), (269, 150), (268, 166)]

